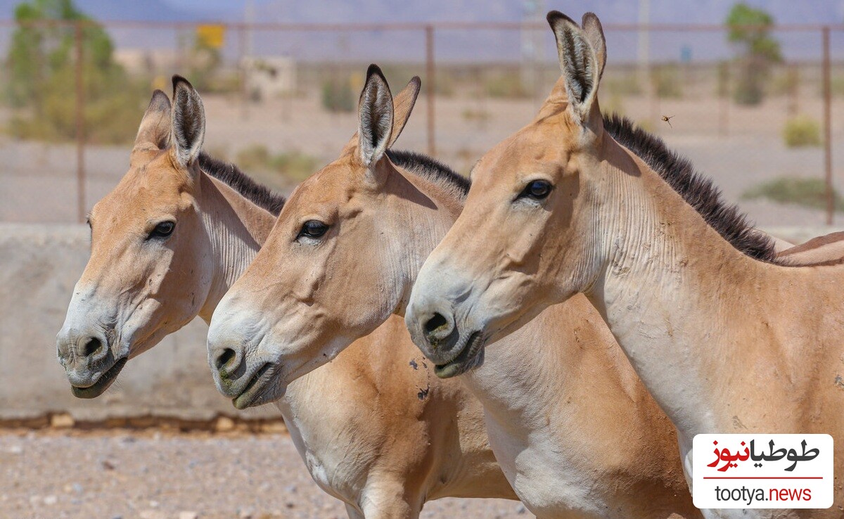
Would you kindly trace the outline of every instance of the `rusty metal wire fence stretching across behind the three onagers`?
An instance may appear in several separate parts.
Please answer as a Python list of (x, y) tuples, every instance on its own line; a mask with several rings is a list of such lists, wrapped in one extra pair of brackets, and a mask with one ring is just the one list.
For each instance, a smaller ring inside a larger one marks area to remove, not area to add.
[[(780, 57), (761, 60), (720, 25), (604, 30), (603, 111), (690, 156), (760, 224), (831, 223), (844, 210), (833, 191), (844, 172), (844, 25), (768, 28)], [(151, 90), (169, 91), (172, 73), (203, 95), (205, 149), (283, 190), (354, 133), (369, 62), (394, 91), (422, 78), (399, 147), (464, 173), (527, 124), (559, 78), (554, 39), (537, 23), (6, 21), (0, 57), (0, 220), (18, 222), (84, 220), (126, 172)]]

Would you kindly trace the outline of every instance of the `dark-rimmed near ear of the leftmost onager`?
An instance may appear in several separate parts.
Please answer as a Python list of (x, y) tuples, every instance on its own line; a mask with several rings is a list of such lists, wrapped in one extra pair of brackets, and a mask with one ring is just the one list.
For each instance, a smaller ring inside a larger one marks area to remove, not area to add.
[(193, 164), (203, 148), (204, 138), (203, 100), (187, 79), (173, 76), (172, 141), (179, 164), (186, 168)]

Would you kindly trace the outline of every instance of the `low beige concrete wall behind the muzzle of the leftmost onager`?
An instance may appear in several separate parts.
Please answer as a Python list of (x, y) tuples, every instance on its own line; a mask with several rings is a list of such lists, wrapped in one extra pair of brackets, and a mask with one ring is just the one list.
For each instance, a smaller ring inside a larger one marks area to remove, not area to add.
[(73, 397), (56, 359), (56, 333), (88, 257), (85, 225), (0, 224), (0, 419), (279, 416), (273, 406), (239, 413), (217, 392), (200, 319), (131, 360), (102, 396)]

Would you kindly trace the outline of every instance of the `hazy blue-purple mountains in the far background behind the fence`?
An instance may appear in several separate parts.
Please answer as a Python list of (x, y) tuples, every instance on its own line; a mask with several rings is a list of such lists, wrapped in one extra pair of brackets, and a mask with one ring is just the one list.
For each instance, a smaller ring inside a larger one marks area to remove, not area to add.
[[(245, 19), (246, 0), (75, 0), (95, 19), (166, 21), (224, 21)], [(18, 0), (0, 0), (0, 19), (12, 18)], [(656, 24), (722, 24), (735, 0), (650, 0), (650, 20)], [(782, 24), (844, 23), (844, 0), (749, 0)], [(262, 23), (386, 23), (522, 21), (527, 6), (544, 12), (556, 8), (579, 19), (594, 11), (604, 24), (634, 24), (639, 17), (636, 0), (252, 0), (252, 20)], [(540, 14), (538, 20), (544, 19)], [(118, 46), (162, 48), (175, 45), (173, 31), (110, 30)], [(787, 59), (818, 59), (817, 32), (776, 33)], [(614, 62), (636, 59), (635, 31), (608, 30), (608, 48)], [(286, 54), (322, 61), (408, 61), (425, 56), (421, 31), (254, 31), (252, 49), (259, 55)], [(230, 45), (235, 36), (229, 38)], [(723, 32), (652, 32), (651, 57), (657, 61), (717, 60), (733, 56)], [(543, 60), (554, 60), (553, 38), (540, 29), (537, 39)], [(834, 59), (844, 58), (844, 31), (833, 33)], [(484, 62), (518, 60), (526, 45), (519, 30), (437, 30), (436, 57), (442, 61)], [(3, 44), (0, 43), (0, 50)], [(231, 56), (233, 49), (230, 49)]]

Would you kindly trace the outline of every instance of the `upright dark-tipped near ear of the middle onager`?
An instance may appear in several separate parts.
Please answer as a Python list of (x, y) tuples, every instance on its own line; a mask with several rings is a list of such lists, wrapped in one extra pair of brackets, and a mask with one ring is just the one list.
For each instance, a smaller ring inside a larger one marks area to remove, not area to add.
[(358, 152), (367, 167), (376, 165), (387, 151), (392, 135), (392, 94), (377, 65), (366, 71), (366, 84), (358, 102)]

